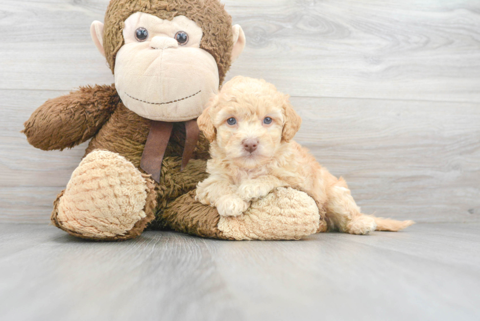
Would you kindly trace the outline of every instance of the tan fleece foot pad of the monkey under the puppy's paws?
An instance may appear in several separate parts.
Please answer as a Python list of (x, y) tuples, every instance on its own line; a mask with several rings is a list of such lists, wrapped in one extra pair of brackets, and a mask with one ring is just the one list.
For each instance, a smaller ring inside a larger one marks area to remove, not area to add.
[(298, 240), (316, 233), (320, 221), (313, 198), (281, 187), (252, 202), (243, 215), (220, 217), (218, 229), (235, 240)]

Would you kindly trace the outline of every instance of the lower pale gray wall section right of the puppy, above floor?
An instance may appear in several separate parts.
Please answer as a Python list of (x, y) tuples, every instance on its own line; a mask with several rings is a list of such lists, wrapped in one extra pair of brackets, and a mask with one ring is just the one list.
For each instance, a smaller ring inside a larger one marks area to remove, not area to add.
[(364, 213), (480, 222), (478, 104), (294, 98), (296, 140), (343, 176)]

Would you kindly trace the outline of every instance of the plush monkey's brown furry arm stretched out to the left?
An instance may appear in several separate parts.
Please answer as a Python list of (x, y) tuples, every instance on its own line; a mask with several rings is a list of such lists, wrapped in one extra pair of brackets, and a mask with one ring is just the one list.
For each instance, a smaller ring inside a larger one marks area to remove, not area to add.
[(22, 132), (36, 148), (72, 148), (93, 137), (119, 102), (113, 84), (80, 87), (78, 91), (45, 102), (24, 123)]

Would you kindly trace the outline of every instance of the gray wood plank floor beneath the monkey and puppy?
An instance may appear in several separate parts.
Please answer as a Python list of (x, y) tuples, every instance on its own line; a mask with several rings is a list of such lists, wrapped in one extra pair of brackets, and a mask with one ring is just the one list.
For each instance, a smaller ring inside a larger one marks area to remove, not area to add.
[(480, 224), (229, 242), (0, 224), (0, 320), (479, 320)]

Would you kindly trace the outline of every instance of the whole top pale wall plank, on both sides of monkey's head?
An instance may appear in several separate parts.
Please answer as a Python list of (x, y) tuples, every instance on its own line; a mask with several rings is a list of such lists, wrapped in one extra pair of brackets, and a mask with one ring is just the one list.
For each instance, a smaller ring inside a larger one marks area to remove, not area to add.
[[(111, 83), (89, 36), (108, 0), (1, 1), (1, 89)], [(475, 0), (225, 1), (247, 48), (231, 75), (292, 96), (480, 102)], [(15, 28), (10, 26), (15, 25)]]

